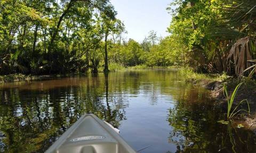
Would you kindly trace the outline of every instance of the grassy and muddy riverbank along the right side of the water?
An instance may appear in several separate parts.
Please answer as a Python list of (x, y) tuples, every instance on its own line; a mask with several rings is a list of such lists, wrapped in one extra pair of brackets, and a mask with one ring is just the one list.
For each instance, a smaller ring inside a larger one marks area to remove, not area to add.
[[(243, 85), (237, 91), (234, 99), (234, 107), (242, 100), (247, 100), (250, 106), (250, 114), (242, 114), (234, 119), (235, 124), (242, 124), (245, 128), (256, 131), (256, 81), (246, 78), (233, 78), (226, 74), (198, 74), (189, 68), (179, 68), (178, 74), (185, 79), (186, 82), (194, 85), (203, 86), (210, 91), (211, 98), (218, 101), (219, 107), (227, 110), (227, 100), (223, 95), (223, 84), (227, 85), (228, 94), (231, 95), (236, 86), (243, 82)], [(244, 103), (238, 109), (247, 110), (247, 104)]]

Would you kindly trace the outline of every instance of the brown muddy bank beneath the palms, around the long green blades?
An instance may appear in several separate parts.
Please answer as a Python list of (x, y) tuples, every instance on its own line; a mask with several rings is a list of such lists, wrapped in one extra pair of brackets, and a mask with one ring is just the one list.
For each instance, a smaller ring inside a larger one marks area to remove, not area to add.
[[(201, 85), (209, 90), (211, 97), (218, 101), (219, 106), (223, 109), (227, 109), (227, 100), (223, 95), (223, 84), (227, 84), (229, 95), (232, 94), (238, 80), (226, 80), (225, 82), (212, 81), (212, 80), (193, 80), (193, 84)], [(234, 122), (236, 124), (242, 124), (245, 128), (256, 131), (256, 85), (255, 82), (245, 82), (238, 90), (237, 95), (234, 100), (234, 106), (242, 100), (247, 100), (250, 106), (250, 114), (243, 114), (237, 117)], [(244, 103), (240, 109), (247, 110), (247, 104)]]

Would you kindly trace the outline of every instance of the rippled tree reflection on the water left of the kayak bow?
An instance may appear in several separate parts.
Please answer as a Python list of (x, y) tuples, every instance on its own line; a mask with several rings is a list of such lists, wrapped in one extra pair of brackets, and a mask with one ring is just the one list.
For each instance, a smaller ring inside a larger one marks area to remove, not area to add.
[(118, 127), (124, 110), (109, 106), (108, 77), (105, 86), (106, 91), (99, 91), (95, 82), (88, 80), (79, 87), (0, 90), (0, 150), (43, 152), (84, 113), (93, 113)]

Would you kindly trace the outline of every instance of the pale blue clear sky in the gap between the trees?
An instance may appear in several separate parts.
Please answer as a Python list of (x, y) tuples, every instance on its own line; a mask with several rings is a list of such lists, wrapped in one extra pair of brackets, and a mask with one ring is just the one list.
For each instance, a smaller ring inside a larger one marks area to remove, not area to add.
[(124, 22), (126, 39), (142, 42), (150, 30), (165, 37), (171, 22), (171, 15), (166, 11), (170, 0), (111, 0), (117, 11), (117, 18)]

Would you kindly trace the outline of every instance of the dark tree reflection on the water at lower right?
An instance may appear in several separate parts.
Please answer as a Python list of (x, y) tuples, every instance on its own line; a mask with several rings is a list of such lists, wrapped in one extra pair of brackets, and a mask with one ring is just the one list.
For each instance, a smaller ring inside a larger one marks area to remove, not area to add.
[[(190, 93), (183, 98), (191, 98)], [(252, 131), (218, 123), (223, 118), (214, 104), (205, 103), (198, 96), (197, 103), (178, 100), (169, 109), (168, 121), (173, 127), (169, 142), (177, 145), (176, 152), (254, 152), (255, 134)], [(190, 101), (193, 101), (190, 99)], [(198, 109), (204, 108), (204, 109)], [(213, 135), (214, 134), (214, 135)]]

